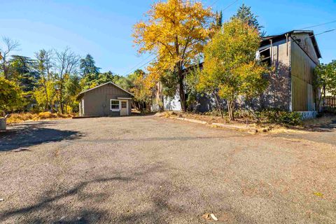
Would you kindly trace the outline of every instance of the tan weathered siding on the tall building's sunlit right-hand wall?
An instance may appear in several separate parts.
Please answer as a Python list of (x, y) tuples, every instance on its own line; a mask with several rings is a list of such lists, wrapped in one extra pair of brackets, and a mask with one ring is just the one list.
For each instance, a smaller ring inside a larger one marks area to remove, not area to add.
[[(309, 38), (308, 38), (309, 39)], [(292, 80), (292, 109), (293, 111), (313, 111), (315, 103), (315, 92), (312, 88), (314, 68), (318, 58), (313, 53), (314, 47), (306, 39), (306, 52), (300, 48), (299, 43), (291, 39), (290, 66)], [(302, 37), (302, 40), (304, 38)], [(302, 43), (302, 41), (300, 41)], [(310, 48), (312, 50), (310, 50)], [(309, 49), (309, 51), (308, 51)], [(309, 56), (310, 57), (309, 57)]]

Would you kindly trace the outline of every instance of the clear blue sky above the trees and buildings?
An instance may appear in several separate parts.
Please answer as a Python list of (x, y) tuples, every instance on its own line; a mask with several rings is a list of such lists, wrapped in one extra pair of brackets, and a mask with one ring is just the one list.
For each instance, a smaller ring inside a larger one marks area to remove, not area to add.
[[(234, 0), (204, 0), (205, 6), (223, 10)], [(34, 57), (39, 49), (62, 50), (69, 46), (81, 56), (90, 53), (102, 71), (125, 75), (135, 65), (147, 62), (148, 55), (137, 55), (132, 27), (144, 18), (151, 0), (0, 0), (0, 36), (20, 42), (15, 54)], [(228, 20), (243, 3), (238, 0), (223, 11)], [(245, 0), (259, 16), (267, 34), (336, 20), (336, 0)], [(336, 29), (336, 22), (312, 28), (315, 34)], [(321, 62), (336, 59), (336, 31), (316, 36)], [(141, 63), (143, 62), (143, 63)], [(137, 68), (138, 66), (136, 66)]]

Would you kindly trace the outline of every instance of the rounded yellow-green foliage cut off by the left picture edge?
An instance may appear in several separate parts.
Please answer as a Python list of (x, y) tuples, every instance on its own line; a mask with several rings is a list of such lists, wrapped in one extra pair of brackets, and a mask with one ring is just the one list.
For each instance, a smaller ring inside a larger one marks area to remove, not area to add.
[(0, 111), (7, 113), (22, 108), (21, 90), (13, 81), (0, 77)]

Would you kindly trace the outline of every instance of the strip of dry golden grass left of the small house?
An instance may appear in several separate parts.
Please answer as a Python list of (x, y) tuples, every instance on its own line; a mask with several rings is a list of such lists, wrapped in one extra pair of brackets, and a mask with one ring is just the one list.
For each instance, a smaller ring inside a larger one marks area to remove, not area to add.
[(72, 118), (71, 114), (62, 114), (62, 113), (50, 113), (50, 112), (41, 112), (41, 113), (12, 113), (10, 117), (7, 118), (7, 123), (22, 123), (26, 120), (45, 120), (45, 119), (59, 119), (59, 118)]

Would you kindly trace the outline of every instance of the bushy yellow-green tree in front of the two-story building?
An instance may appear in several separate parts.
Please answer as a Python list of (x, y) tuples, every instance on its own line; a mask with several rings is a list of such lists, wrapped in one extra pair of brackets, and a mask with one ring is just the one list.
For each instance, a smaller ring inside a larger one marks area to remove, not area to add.
[(204, 69), (198, 87), (218, 96), (228, 104), (230, 120), (235, 120), (237, 98), (258, 96), (267, 87), (262, 74), (267, 68), (256, 61), (260, 45), (258, 30), (242, 20), (223, 25), (204, 49)]

